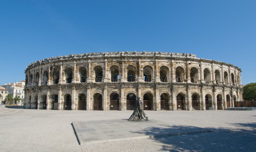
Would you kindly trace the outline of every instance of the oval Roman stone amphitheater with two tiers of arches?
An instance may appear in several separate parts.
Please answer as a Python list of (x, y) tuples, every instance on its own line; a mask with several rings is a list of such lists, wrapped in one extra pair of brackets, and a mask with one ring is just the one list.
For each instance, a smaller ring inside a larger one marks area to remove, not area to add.
[(25, 70), (24, 108), (225, 110), (243, 100), (241, 69), (194, 54), (105, 52), (50, 57)]

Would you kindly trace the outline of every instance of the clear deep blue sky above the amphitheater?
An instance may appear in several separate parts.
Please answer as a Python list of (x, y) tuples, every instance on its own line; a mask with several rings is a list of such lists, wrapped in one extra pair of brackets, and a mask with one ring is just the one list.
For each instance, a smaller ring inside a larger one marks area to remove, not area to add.
[(31, 62), (85, 52), (192, 53), (242, 69), (256, 82), (256, 1), (0, 2), (0, 85)]

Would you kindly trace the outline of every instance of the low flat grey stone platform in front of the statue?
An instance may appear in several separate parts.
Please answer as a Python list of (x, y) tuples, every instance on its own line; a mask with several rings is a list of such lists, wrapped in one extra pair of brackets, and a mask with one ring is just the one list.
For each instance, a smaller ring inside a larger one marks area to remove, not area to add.
[(159, 120), (131, 122), (116, 119), (75, 121), (72, 124), (80, 144), (212, 132), (210, 129), (177, 126)]

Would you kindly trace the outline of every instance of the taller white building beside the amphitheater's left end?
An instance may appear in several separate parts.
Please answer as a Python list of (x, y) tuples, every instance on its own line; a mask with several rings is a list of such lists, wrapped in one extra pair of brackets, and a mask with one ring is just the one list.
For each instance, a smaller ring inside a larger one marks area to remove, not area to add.
[[(16, 95), (20, 97), (20, 101), (17, 102), (18, 105), (23, 105), (24, 100), (24, 87), (25, 87), (25, 80), (21, 80), (20, 82), (13, 82), (9, 84), (5, 84), (2, 87), (9, 90), (9, 94), (14, 98)], [(14, 101), (13, 101), (14, 103)]]

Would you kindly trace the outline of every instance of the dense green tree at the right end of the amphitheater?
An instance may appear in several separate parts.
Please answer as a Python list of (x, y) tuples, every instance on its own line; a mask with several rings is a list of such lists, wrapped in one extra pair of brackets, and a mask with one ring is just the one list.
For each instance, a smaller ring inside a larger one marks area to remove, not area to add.
[(249, 83), (243, 87), (243, 97), (245, 101), (256, 101), (256, 83)]

